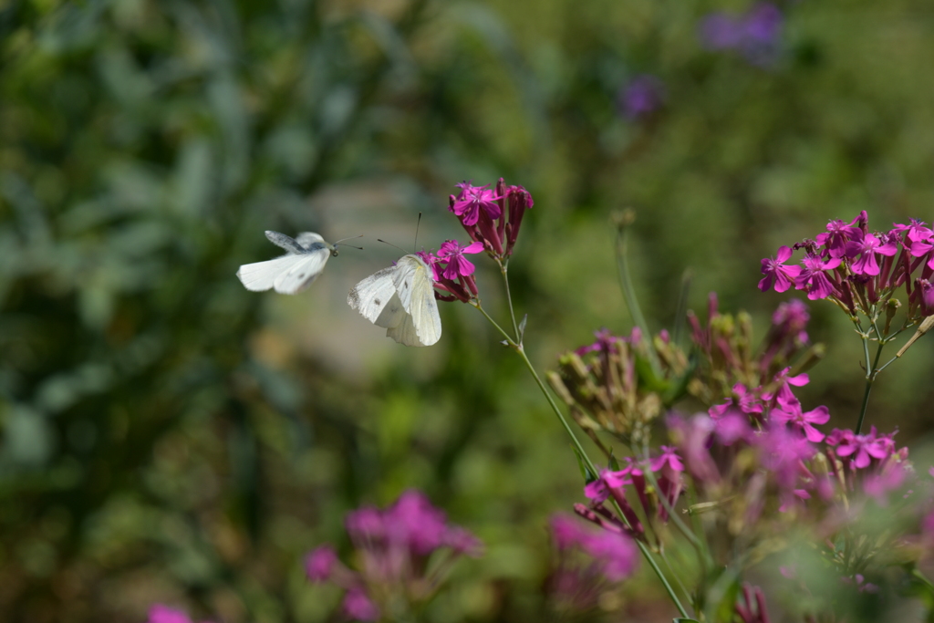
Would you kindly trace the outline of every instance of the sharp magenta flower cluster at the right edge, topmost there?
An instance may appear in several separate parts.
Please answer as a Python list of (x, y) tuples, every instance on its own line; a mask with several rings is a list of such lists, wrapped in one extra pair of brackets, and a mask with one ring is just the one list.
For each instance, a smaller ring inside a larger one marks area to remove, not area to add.
[[(803, 251), (800, 264), (787, 264), (794, 250)], [(871, 305), (904, 288), (909, 318), (923, 318), (934, 314), (934, 232), (916, 219), (870, 232), (863, 211), (849, 223), (831, 220), (814, 240), (779, 248), (774, 258), (762, 260), (762, 274), (759, 290), (793, 287), (811, 300), (835, 301), (851, 315), (868, 314)]]

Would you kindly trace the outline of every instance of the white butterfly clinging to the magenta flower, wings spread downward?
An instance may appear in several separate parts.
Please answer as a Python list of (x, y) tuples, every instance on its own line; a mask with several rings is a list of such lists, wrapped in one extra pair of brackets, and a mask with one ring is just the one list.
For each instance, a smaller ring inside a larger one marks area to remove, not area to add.
[(417, 255), (404, 255), (363, 279), (350, 290), (347, 304), (407, 347), (430, 347), (441, 338), (432, 267)]

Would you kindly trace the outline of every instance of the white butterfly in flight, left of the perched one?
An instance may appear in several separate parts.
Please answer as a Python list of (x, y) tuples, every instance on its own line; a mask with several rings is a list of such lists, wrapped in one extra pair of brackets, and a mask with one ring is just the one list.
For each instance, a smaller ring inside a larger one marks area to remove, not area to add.
[(259, 292), (275, 288), (281, 294), (296, 294), (308, 288), (321, 274), (328, 258), (337, 255), (337, 248), (312, 232), (303, 232), (295, 238), (266, 232), (266, 237), (288, 252), (275, 260), (240, 266), (236, 276), (247, 290)]

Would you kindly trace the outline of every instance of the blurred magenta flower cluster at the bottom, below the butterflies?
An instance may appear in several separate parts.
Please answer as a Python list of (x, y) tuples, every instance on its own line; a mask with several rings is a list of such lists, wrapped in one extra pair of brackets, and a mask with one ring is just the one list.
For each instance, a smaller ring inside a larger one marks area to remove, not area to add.
[(345, 523), (358, 568), (345, 566), (332, 545), (321, 545), (305, 557), (305, 572), (312, 582), (343, 588), (344, 615), (357, 621), (391, 619), (399, 615), (392, 604), (426, 601), (454, 560), (479, 556), (483, 549), (415, 490), (383, 510), (363, 506)]

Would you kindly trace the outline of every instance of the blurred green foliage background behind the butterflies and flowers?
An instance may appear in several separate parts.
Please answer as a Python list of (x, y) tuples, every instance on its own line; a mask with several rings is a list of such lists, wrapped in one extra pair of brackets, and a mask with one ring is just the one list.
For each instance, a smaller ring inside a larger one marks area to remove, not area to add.
[[(753, 312), (759, 259), (870, 212), (931, 219), (934, 12), (920, 0), (782, 6), (773, 64), (705, 50), (743, 2), (0, 0), (0, 620), (325, 620), (302, 555), (344, 513), (425, 490), (488, 545), (434, 621), (540, 620), (547, 517), (581, 498), (557, 422), (473, 309), (405, 348), (345, 304), (411, 248), (465, 236), (461, 179), (535, 198), (511, 275), (540, 370), (627, 331), (611, 213), (656, 329)], [(652, 75), (663, 104), (619, 93)], [(296, 297), (248, 292), (262, 235), (366, 234)], [(478, 280), (502, 318), (497, 276)], [(853, 426), (860, 346), (812, 305), (828, 361), (804, 403)], [(922, 342), (869, 422), (931, 428)], [(638, 599), (636, 598), (638, 596)], [(652, 578), (616, 620), (672, 616)], [(659, 605), (660, 604), (660, 605)]]

